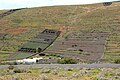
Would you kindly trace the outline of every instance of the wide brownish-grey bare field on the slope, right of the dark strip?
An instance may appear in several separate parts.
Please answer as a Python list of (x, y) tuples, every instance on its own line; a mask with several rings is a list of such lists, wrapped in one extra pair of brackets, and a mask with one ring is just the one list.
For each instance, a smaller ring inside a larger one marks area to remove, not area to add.
[(87, 62), (96, 62), (103, 56), (105, 41), (108, 36), (108, 33), (83, 33), (79, 36), (54, 42), (44, 53), (54, 53)]

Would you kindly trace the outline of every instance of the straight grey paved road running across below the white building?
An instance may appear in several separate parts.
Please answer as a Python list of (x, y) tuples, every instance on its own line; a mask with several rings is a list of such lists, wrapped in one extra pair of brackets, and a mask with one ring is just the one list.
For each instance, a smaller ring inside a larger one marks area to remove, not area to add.
[[(8, 68), (9, 65), (0, 65), (0, 68)], [(15, 65), (18, 68), (120, 68), (120, 64), (33, 64)]]

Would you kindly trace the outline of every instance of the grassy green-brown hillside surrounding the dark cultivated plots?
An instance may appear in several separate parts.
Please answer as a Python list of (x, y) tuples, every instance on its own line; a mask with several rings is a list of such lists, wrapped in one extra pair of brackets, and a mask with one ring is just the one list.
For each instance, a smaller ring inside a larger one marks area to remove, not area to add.
[(6, 60), (44, 29), (62, 31), (60, 41), (83, 33), (107, 33), (101, 59), (110, 63), (120, 59), (120, 2), (27, 8), (2, 17), (0, 34), (7, 35), (0, 38), (0, 59)]

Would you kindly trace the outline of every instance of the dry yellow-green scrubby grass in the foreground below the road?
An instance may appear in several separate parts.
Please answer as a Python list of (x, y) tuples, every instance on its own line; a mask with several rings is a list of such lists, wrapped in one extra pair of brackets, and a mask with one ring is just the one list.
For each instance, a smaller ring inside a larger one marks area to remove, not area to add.
[[(101, 68), (101, 69), (50, 69), (49, 73), (41, 73), (43, 69), (28, 69), (30, 73), (7, 73), (0, 72), (0, 79), (2, 80), (119, 80), (120, 69)], [(8, 70), (7, 70), (8, 71)], [(57, 71), (57, 75), (53, 74)], [(5, 74), (7, 73), (7, 74)]]

